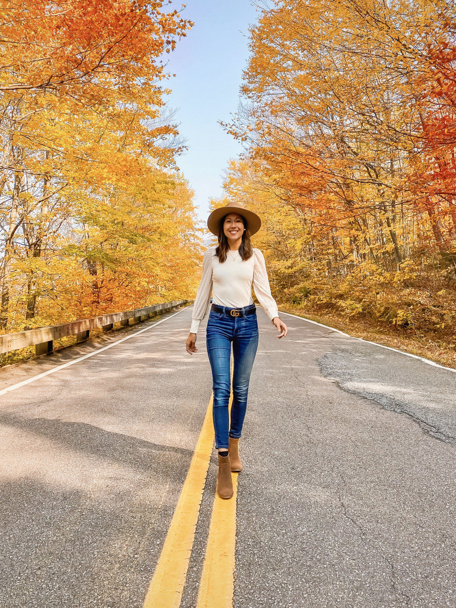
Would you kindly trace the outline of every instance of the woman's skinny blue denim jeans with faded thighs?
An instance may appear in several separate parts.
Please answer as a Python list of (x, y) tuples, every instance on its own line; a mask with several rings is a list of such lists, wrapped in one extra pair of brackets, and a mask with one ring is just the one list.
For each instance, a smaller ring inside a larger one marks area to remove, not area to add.
[[(246, 416), (250, 371), (258, 347), (257, 314), (230, 317), (210, 311), (206, 344), (212, 369), (215, 447), (228, 449), (228, 437), (241, 437)], [(233, 401), (231, 420), (229, 420), (231, 345), (233, 345)]]

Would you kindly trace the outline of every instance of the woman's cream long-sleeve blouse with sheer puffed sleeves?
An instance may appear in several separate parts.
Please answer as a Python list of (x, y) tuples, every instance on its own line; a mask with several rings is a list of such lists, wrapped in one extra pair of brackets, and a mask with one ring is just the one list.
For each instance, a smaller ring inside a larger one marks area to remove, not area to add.
[(243, 308), (254, 303), (252, 285), (269, 319), (278, 317), (277, 303), (271, 295), (268, 272), (260, 249), (254, 249), (254, 255), (244, 261), (237, 252), (229, 252), (226, 261), (221, 264), (215, 255), (215, 246), (209, 247), (202, 260), (202, 277), (196, 292), (190, 333), (198, 333), (199, 323), (209, 311), (211, 294), (214, 304)]

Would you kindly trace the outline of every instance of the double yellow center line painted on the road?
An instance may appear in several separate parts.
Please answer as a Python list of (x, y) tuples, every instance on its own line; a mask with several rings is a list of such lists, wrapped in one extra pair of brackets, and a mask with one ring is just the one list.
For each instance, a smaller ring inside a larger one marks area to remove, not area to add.
[[(231, 405), (231, 399), (230, 399)], [(195, 454), (171, 520), (162, 552), (147, 591), (143, 608), (179, 608), (192, 554), (199, 506), (206, 483), (213, 445), (213, 398), (207, 408)], [(233, 497), (215, 495), (206, 558), (202, 569), (197, 608), (231, 608), (236, 543), (237, 473)]]

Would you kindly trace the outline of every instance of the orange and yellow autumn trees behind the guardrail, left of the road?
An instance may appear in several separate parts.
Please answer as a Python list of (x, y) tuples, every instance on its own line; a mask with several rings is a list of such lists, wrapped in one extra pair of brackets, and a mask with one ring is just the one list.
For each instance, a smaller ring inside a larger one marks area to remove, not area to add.
[(188, 297), (193, 193), (164, 107), (192, 25), (162, 0), (0, 7), (0, 332)]

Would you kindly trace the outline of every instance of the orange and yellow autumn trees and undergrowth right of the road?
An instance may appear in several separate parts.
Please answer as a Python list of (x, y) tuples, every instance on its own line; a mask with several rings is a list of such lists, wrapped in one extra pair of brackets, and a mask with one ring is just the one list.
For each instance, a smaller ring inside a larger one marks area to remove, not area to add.
[(269, 4), (225, 201), (290, 311), (456, 367), (456, 5)]

